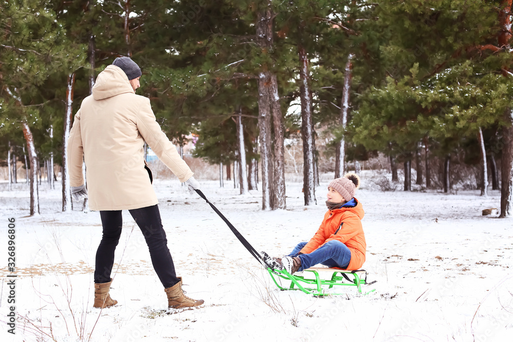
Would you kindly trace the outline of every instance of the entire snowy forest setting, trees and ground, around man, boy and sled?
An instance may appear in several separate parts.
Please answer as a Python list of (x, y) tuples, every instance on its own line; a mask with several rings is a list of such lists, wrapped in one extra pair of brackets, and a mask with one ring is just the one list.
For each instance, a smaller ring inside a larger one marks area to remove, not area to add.
[[(511, 5), (0, 3), (0, 211), (19, 231), (16, 338), (510, 339)], [(66, 151), (82, 100), (122, 56), (140, 66), (135, 93), (150, 99), (205, 195), (273, 256), (318, 229), (327, 183), (359, 174), (363, 268), (376, 292), (279, 291), (204, 201), (150, 162), (145, 145), (176, 268), (206, 307), (163, 306), (145, 240), (127, 216), (112, 283), (123, 305), (91, 309), (102, 226), (87, 198), (72, 203)], [(0, 339), (11, 340), (6, 303)]]

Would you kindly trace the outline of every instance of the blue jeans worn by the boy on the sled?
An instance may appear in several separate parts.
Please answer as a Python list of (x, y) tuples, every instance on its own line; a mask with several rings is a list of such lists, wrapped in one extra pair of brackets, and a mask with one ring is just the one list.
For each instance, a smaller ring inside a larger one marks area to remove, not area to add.
[(317, 264), (322, 264), (328, 267), (339, 267), (346, 269), (351, 260), (351, 251), (349, 248), (337, 240), (331, 240), (308, 254), (301, 254), (299, 252), (305, 247), (306, 242), (300, 242), (294, 247), (292, 253), (288, 256), (299, 256), (301, 259), (301, 267), (299, 272), (310, 268)]

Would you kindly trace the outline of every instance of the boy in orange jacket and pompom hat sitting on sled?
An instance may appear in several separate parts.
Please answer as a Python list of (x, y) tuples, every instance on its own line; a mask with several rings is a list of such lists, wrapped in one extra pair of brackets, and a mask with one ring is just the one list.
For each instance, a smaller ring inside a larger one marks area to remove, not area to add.
[(365, 235), (362, 228), (364, 211), (354, 198), (360, 186), (355, 173), (346, 173), (328, 185), (326, 206), (321, 227), (308, 243), (299, 243), (283, 258), (271, 258), (265, 252), (267, 264), (293, 274), (317, 264), (345, 270), (358, 270), (365, 261)]

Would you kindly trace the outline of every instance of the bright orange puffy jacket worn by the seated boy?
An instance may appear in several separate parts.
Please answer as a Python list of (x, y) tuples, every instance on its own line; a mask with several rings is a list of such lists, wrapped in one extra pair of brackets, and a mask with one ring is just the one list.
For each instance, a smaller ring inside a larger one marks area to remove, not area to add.
[[(339, 240), (345, 244), (351, 251), (351, 260), (348, 270), (358, 270), (365, 262), (365, 234), (362, 228), (362, 218), (365, 212), (362, 204), (357, 202), (355, 207), (346, 207), (334, 210), (328, 210), (324, 214), (321, 227), (308, 244), (301, 250), (301, 253), (308, 254), (318, 249), (331, 240)], [(335, 234), (341, 223), (344, 223), (340, 230)]]

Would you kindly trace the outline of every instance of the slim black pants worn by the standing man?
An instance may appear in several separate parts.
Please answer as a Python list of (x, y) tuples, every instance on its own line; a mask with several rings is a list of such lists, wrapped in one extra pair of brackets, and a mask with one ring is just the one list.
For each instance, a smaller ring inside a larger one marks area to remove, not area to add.
[[(135, 223), (146, 240), (150, 250), (153, 269), (165, 288), (178, 283), (174, 271), (173, 259), (167, 248), (166, 232), (162, 227), (159, 206), (154, 205), (140, 209), (129, 210)], [(100, 211), (102, 217), (103, 236), (96, 251), (96, 267), (94, 283), (102, 284), (110, 281), (110, 273), (114, 265), (114, 251), (120, 241), (123, 217), (121, 210)]]

